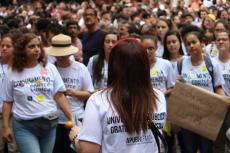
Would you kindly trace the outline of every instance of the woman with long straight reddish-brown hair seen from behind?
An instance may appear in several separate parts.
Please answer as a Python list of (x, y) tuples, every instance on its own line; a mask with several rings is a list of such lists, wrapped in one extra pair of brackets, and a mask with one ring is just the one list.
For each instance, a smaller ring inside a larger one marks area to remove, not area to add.
[(109, 57), (108, 87), (90, 97), (82, 129), (76, 126), (70, 133), (80, 153), (157, 152), (148, 124), (153, 121), (163, 127), (166, 101), (162, 92), (152, 88), (149, 70), (147, 52), (137, 39), (115, 44)]

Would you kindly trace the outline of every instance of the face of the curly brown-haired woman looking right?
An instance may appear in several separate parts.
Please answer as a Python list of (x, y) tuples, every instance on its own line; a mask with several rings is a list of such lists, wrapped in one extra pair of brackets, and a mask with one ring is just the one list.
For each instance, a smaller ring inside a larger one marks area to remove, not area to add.
[(30, 60), (38, 60), (41, 55), (41, 43), (38, 38), (32, 39), (26, 45), (27, 58)]

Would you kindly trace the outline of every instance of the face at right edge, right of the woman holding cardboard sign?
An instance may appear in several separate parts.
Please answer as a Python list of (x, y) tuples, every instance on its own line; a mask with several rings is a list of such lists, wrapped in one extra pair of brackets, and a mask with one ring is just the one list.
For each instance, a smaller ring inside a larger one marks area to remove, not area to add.
[(229, 52), (230, 49), (230, 39), (226, 32), (219, 32), (216, 35), (216, 45), (218, 50)]

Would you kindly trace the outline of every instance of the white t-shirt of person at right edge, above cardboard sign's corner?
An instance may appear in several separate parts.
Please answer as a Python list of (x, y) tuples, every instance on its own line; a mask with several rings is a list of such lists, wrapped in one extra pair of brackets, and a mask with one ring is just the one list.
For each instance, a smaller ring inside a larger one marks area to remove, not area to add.
[(226, 63), (223, 63), (219, 59), (216, 59), (216, 60), (217, 60), (217, 63), (221, 70), (221, 74), (225, 81), (223, 85), (225, 95), (230, 96), (230, 60)]

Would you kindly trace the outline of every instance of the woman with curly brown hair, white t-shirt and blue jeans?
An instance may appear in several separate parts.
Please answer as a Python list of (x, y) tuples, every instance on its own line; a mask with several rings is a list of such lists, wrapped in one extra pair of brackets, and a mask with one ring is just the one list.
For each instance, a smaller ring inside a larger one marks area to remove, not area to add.
[(46, 62), (40, 39), (24, 34), (16, 44), (3, 92), (3, 139), (12, 127), (20, 153), (51, 153), (58, 122), (57, 105), (72, 120), (65, 86), (54, 65)]

